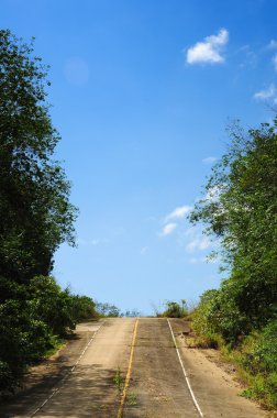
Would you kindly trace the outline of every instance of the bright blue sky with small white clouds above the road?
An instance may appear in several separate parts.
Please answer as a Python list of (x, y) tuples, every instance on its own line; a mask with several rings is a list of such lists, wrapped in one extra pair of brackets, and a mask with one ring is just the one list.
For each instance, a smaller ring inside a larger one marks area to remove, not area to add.
[(79, 207), (58, 282), (151, 314), (196, 301), (221, 276), (186, 216), (225, 127), (269, 121), (277, 102), (275, 0), (0, 0), (1, 28), (35, 36), (51, 65), (57, 157)]

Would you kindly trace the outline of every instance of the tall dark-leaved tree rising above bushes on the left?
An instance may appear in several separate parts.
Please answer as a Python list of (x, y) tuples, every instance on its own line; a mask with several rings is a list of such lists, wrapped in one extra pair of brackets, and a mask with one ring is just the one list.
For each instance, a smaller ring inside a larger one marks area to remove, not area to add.
[(48, 275), (53, 254), (74, 244), (70, 185), (53, 160), (47, 67), (33, 45), (0, 31), (0, 275), (19, 283)]

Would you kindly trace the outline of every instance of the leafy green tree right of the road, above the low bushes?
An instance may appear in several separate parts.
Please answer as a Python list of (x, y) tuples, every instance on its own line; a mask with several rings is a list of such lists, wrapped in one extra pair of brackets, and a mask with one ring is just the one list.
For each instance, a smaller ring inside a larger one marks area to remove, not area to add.
[(190, 216), (220, 239), (231, 272), (212, 304), (226, 338), (262, 327), (277, 312), (276, 130), (277, 118), (247, 132), (232, 127), (228, 153)]

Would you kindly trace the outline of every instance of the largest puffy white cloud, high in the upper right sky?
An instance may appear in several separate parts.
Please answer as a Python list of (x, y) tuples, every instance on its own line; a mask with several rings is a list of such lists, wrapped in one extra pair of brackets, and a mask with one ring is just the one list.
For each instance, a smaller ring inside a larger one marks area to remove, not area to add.
[(221, 29), (218, 35), (207, 36), (187, 51), (188, 64), (221, 64), (225, 58), (221, 55), (229, 41), (229, 33)]

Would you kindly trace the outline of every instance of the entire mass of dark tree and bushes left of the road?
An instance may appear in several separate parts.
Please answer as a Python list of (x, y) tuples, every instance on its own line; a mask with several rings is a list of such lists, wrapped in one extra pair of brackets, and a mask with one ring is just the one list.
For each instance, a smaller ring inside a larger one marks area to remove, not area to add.
[(70, 185), (54, 160), (47, 67), (10, 31), (0, 31), (0, 394), (27, 366), (60, 346), (95, 301), (62, 289), (54, 253), (75, 244)]

